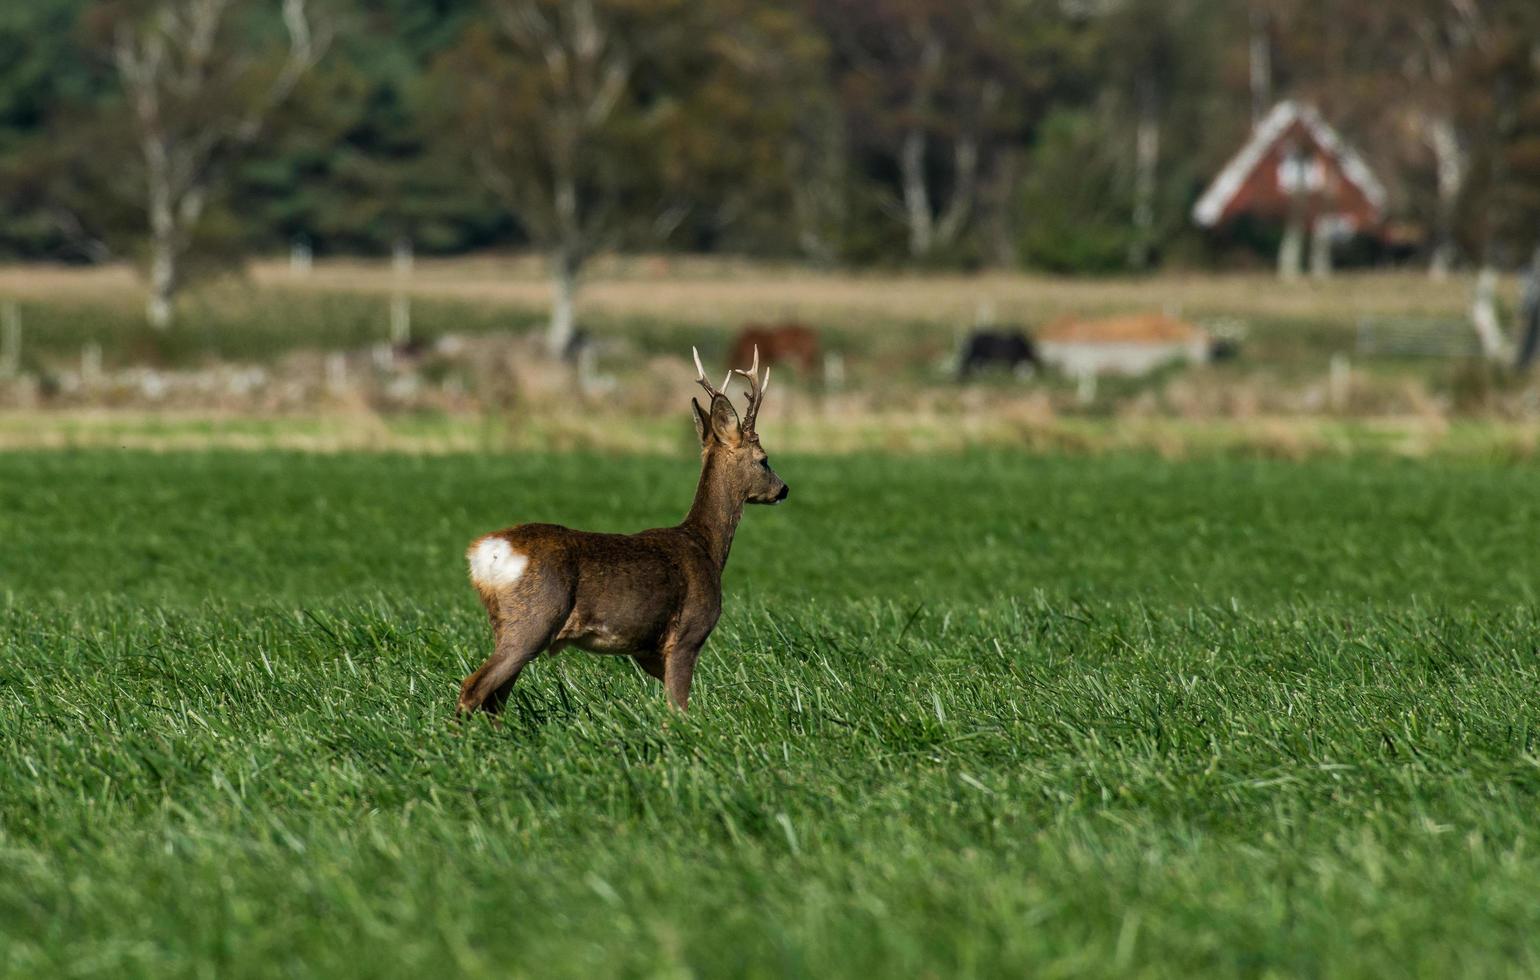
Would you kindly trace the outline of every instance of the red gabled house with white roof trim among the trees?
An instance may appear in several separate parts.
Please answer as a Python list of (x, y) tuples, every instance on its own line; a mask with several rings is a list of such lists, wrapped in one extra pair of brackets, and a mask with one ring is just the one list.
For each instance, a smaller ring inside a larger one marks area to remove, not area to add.
[(1241, 214), (1286, 222), (1284, 251), (1292, 247), (1295, 262), (1311, 228), (1317, 260), (1329, 260), (1334, 239), (1380, 223), (1384, 186), (1320, 112), (1280, 102), (1192, 208), (1204, 228)]

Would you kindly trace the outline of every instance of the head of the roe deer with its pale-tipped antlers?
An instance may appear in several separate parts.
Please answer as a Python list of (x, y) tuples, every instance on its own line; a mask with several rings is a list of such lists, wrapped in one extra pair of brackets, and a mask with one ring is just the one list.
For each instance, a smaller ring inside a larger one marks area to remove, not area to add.
[[(701, 353), (693, 347), (690, 353), (695, 354), (695, 381), (710, 396), (710, 408), (701, 408), (701, 402), (690, 399), (690, 405), (695, 408), (695, 431), (701, 436), (705, 470), (724, 481), (728, 493), (745, 504), (779, 504), (792, 490), (770, 468), (770, 456), (759, 445), (759, 433), (755, 431), (759, 405), (764, 401), (765, 388), (770, 387), (768, 367), (765, 367), (764, 379), (759, 378), (759, 348), (755, 347), (753, 365), (747, 371), (741, 368), (728, 371), (721, 390), (705, 379)], [(733, 408), (733, 402), (725, 394), (733, 374), (748, 381), (748, 408), (742, 421), (738, 419), (738, 410)]]

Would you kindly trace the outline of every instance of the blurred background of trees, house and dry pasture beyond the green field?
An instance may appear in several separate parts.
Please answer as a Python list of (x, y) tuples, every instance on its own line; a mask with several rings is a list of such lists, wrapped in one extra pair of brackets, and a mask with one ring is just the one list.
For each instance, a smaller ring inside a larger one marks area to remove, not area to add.
[(1532, 0), (29, 0), (0, 445), (1540, 447)]

